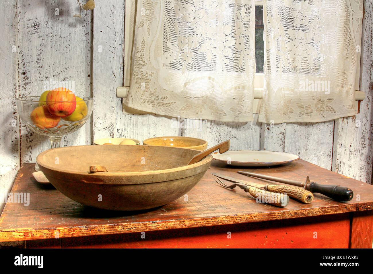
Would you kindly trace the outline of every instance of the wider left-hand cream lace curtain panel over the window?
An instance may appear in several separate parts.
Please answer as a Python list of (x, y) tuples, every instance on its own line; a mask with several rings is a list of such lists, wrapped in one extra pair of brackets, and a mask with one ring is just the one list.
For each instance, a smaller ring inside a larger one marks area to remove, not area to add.
[(252, 121), (254, 0), (139, 0), (128, 107)]

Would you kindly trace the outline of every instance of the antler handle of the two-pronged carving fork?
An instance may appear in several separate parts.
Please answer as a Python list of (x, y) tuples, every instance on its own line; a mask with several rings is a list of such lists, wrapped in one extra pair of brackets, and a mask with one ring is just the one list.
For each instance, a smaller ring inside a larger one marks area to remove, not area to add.
[(258, 203), (275, 205), (276, 207), (286, 207), (289, 204), (289, 196), (280, 193), (273, 193), (254, 186), (247, 185), (245, 192), (250, 193)]

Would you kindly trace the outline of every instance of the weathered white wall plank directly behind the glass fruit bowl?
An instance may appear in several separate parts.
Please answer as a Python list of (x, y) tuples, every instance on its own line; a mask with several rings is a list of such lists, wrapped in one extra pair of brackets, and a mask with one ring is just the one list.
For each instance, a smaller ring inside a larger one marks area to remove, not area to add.
[[(91, 12), (73, 17), (79, 11), (76, 2), (58, 0), (19, 0), (17, 10), (19, 96), (39, 96), (45, 81), (71, 81), (76, 95), (91, 96)], [(89, 122), (61, 141), (84, 144), (91, 144)], [(21, 122), (21, 163), (35, 161), (49, 148), (47, 137)]]

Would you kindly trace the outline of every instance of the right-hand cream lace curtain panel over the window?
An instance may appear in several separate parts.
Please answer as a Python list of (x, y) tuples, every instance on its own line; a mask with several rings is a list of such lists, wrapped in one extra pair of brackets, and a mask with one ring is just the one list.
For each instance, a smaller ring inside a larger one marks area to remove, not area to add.
[(264, 0), (265, 88), (259, 121), (355, 114), (363, 0)]

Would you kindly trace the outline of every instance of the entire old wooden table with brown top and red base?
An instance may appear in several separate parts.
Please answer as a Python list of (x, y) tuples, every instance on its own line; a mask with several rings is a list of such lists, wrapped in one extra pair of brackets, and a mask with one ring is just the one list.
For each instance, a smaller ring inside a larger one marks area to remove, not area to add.
[[(33, 168), (24, 164), (19, 170), (12, 193), (29, 193), (29, 205), (7, 202), (0, 242), (25, 241), (27, 248), (372, 248), (373, 186), (304, 160), (256, 169), (213, 160), (187, 196), (142, 212), (85, 207), (36, 182)], [(350, 187), (354, 198), (336, 202), (315, 193), (311, 204), (293, 199), (286, 208), (258, 204), (243, 190), (222, 188), (211, 179), (211, 172), (249, 179), (237, 170), (299, 181), (310, 175), (311, 181)]]

